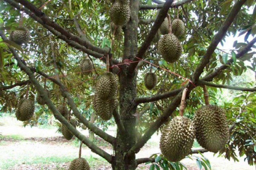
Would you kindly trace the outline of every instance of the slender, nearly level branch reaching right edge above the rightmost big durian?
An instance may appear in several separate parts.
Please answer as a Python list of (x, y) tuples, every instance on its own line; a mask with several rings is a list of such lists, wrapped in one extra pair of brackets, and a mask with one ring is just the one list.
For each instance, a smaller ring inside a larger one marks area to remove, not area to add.
[(237, 86), (229, 86), (229, 85), (223, 85), (223, 84), (214, 84), (207, 81), (198, 80), (197, 85), (206, 85), (216, 88), (224, 88), (224, 89), (231, 89), (231, 90), (239, 90), (239, 91), (247, 91), (247, 92), (255, 92), (256, 88), (247, 88), (247, 87), (237, 87)]

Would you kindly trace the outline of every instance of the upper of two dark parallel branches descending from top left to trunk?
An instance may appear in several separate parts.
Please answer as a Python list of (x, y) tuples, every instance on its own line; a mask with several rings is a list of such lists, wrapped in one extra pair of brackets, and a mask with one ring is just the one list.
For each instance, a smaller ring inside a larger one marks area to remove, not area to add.
[(82, 45), (82, 46), (84, 46), (87, 49), (90, 49), (92, 51), (95, 51), (95, 52), (98, 52), (98, 53), (101, 53), (101, 54), (109, 53), (109, 50), (110, 50), (109, 48), (108, 48), (108, 50), (106, 50), (106, 49), (102, 49), (102, 48), (96, 47), (96, 46), (92, 45), (90, 42), (84, 41), (80, 37), (78, 37), (76, 35), (73, 35), (68, 30), (62, 28), (56, 22), (54, 22), (49, 17), (47, 17), (44, 12), (39, 10), (36, 6), (34, 6), (32, 3), (28, 2), (27, 0), (15, 0), (15, 1), (23, 4), (24, 6), (26, 6), (31, 12), (33, 12), (36, 16), (41, 18), (42, 21), (44, 21), (45, 25), (53, 27), (55, 30), (60, 32), (62, 35), (66, 36), (68, 39), (70, 39), (70, 40), (72, 40), (74, 42), (77, 42), (80, 45)]

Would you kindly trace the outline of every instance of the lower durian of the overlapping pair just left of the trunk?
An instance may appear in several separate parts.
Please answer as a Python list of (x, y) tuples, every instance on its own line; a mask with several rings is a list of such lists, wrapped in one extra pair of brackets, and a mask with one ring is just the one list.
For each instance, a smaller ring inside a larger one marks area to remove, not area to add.
[(97, 93), (93, 96), (93, 108), (96, 114), (103, 120), (110, 120), (116, 105), (117, 101), (115, 97), (103, 101)]

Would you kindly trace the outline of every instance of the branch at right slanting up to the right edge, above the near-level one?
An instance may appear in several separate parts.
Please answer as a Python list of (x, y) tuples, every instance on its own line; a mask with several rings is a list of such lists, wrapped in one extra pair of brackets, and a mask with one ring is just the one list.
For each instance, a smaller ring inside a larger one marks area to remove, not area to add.
[[(253, 38), (253, 40), (250, 41), (250, 43), (248, 43), (241, 51), (239, 51), (236, 54), (236, 58), (240, 59), (245, 53), (247, 53), (249, 50), (251, 50), (254, 43), (256, 43), (256, 37)], [(233, 59), (229, 59), (228, 62), (225, 65), (221, 65), (220, 67), (215, 69), (214, 72), (212, 72), (212, 73), (208, 74), (207, 76), (203, 77), (201, 80), (203, 80), (203, 81), (212, 81), (213, 78), (216, 77), (222, 70), (229, 67), (229, 65), (231, 65), (232, 62), (233, 62)]]

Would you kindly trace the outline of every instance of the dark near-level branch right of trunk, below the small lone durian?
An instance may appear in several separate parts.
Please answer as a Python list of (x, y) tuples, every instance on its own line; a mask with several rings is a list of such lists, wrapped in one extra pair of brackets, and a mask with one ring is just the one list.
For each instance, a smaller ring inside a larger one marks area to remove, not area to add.
[(172, 96), (175, 96), (175, 95), (179, 94), (179, 92), (182, 89), (183, 88), (180, 88), (180, 89), (172, 90), (172, 91), (165, 92), (165, 93), (162, 93), (162, 94), (156, 94), (156, 95), (153, 95), (153, 96), (150, 96), (150, 97), (135, 98), (135, 102), (138, 105), (140, 103), (154, 102), (154, 101), (158, 101), (158, 100), (161, 100), (161, 99), (169, 98), (169, 97), (172, 97)]

